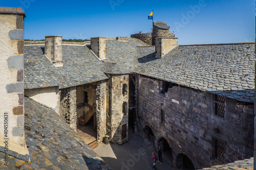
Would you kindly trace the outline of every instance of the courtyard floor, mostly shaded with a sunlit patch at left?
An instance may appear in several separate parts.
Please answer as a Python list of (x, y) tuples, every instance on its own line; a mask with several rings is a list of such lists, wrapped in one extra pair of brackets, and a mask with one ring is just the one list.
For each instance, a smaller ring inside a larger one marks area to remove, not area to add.
[[(101, 143), (94, 151), (114, 170), (153, 169), (152, 152), (155, 152), (153, 141), (142, 139), (134, 133), (129, 134), (129, 142), (122, 145)], [(156, 162), (157, 169), (173, 170), (166, 159), (163, 153), (163, 163)]]

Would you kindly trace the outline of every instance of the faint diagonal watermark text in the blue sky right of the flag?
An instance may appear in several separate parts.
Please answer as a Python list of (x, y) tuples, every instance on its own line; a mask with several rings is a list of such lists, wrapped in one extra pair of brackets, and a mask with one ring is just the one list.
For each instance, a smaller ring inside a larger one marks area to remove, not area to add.
[(185, 25), (187, 25), (191, 19), (195, 18), (196, 14), (198, 14), (201, 11), (201, 8), (205, 7), (207, 4), (204, 0), (199, 0), (198, 5), (190, 5), (190, 9), (186, 15), (185, 14), (181, 14), (182, 18), (181, 18), (181, 22), (174, 22), (174, 25), (177, 29), (178, 32), (180, 32), (181, 28), (184, 28)]

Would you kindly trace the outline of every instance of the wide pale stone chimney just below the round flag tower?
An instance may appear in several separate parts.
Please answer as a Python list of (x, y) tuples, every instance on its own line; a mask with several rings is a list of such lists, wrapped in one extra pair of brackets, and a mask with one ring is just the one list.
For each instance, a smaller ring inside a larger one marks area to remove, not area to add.
[(161, 37), (156, 38), (156, 58), (161, 58), (163, 55), (173, 50), (178, 45), (178, 38), (176, 37)]

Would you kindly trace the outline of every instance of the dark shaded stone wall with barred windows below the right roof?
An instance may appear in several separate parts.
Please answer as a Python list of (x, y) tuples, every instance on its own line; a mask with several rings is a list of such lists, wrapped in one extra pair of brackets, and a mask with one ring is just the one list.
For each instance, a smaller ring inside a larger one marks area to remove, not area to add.
[[(173, 86), (159, 93), (161, 80), (139, 76), (140, 136), (149, 126), (158, 140), (164, 137), (172, 148), (173, 162), (185, 154), (195, 168), (242, 160), (253, 155), (253, 105), (225, 98), (225, 116), (214, 113), (214, 94)], [(161, 122), (161, 109), (165, 121)], [(215, 158), (214, 139), (224, 143), (224, 161)]]

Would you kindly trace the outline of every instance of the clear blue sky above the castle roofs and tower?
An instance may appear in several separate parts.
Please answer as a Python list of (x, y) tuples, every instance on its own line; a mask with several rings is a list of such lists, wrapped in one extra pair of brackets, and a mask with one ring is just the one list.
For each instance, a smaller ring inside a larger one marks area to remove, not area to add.
[(152, 20), (147, 16), (152, 9), (154, 21), (168, 23), (179, 44), (255, 39), (254, 0), (12, 0), (2, 1), (1, 6), (22, 7), (26, 12), (25, 39), (130, 37), (139, 31), (151, 32)]

